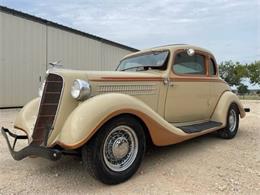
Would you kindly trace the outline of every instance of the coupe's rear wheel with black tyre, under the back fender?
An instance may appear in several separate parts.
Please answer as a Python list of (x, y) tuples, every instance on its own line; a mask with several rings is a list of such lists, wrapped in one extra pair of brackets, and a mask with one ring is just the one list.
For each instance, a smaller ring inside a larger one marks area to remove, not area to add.
[(239, 126), (239, 110), (236, 104), (231, 104), (227, 114), (227, 125), (218, 131), (218, 136), (224, 139), (232, 139), (236, 136)]

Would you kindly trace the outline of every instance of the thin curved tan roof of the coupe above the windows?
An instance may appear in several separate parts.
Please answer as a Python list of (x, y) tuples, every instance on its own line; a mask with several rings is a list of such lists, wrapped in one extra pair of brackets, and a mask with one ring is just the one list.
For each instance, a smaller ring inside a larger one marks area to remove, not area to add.
[(174, 51), (174, 50), (178, 50), (178, 49), (189, 49), (189, 48), (192, 48), (194, 50), (203, 51), (203, 52), (209, 53), (212, 56), (214, 56), (209, 50), (204, 49), (202, 47), (195, 46), (195, 45), (190, 45), (190, 44), (170, 44), (170, 45), (163, 45), (163, 46), (158, 46), (158, 47), (152, 47), (152, 48), (148, 48), (148, 49), (142, 49), (142, 50), (140, 50), (138, 52), (128, 54), (124, 58), (128, 58), (130, 56), (135, 56), (135, 55), (138, 55), (138, 54), (146, 53), (146, 52), (149, 52), (149, 51), (162, 51), (162, 50)]

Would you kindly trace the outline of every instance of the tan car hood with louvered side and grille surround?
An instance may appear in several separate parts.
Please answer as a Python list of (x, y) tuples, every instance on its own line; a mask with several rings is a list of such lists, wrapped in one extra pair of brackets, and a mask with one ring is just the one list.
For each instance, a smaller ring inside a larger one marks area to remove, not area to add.
[[(81, 101), (76, 101), (70, 95), (71, 86), (75, 79), (85, 80), (90, 83), (91, 97), (104, 93), (125, 93), (133, 95), (133, 92), (138, 92), (138, 94), (151, 94), (151, 97), (149, 97), (153, 99), (153, 101), (150, 101), (152, 104), (151, 107), (154, 107), (156, 110), (157, 96), (159, 93), (157, 81), (160, 82), (163, 76), (163, 72), (158, 70), (148, 70), (145, 72), (118, 72), (54, 69), (50, 70), (49, 74), (60, 75), (63, 78), (64, 83), (54, 129), (48, 140), (49, 144), (58, 138), (57, 136), (59, 135), (60, 129), (63, 127), (64, 121), (71, 112), (82, 103)], [(142, 87), (140, 88), (138, 86)], [(140, 89), (143, 91), (140, 91)], [(143, 97), (148, 96), (143, 95)]]

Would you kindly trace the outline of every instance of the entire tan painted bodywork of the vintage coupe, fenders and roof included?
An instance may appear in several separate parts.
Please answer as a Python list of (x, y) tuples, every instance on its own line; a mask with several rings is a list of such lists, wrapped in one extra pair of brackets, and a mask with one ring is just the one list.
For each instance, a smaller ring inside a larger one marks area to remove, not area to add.
[[(137, 117), (157, 146), (175, 144), (225, 127), (231, 103), (238, 106), (240, 117), (243, 118), (245, 111), (238, 97), (218, 75), (209, 75), (208, 60), (206, 76), (177, 75), (173, 72), (172, 64), (176, 53), (187, 48), (193, 48), (207, 59), (214, 59), (205, 49), (191, 45), (172, 45), (131, 54), (168, 50), (170, 57), (164, 71), (53, 71), (63, 78), (64, 84), (47, 147), (59, 145), (64, 149), (79, 148), (102, 125), (121, 114)], [(75, 79), (91, 84), (92, 97), (85, 101), (72, 98), (70, 91)], [(33, 133), (40, 101), (40, 98), (36, 98), (26, 104), (15, 121), (15, 128), (25, 131), (28, 137)], [(183, 124), (209, 120), (221, 122), (222, 125), (191, 134), (178, 128)]]

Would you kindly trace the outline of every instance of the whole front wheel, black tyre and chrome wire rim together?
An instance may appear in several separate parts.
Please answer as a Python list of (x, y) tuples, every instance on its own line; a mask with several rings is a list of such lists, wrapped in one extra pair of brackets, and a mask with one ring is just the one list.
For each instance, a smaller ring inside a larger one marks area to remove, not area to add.
[(138, 169), (145, 153), (142, 125), (131, 116), (120, 116), (106, 123), (82, 148), (88, 172), (105, 184), (129, 179)]

